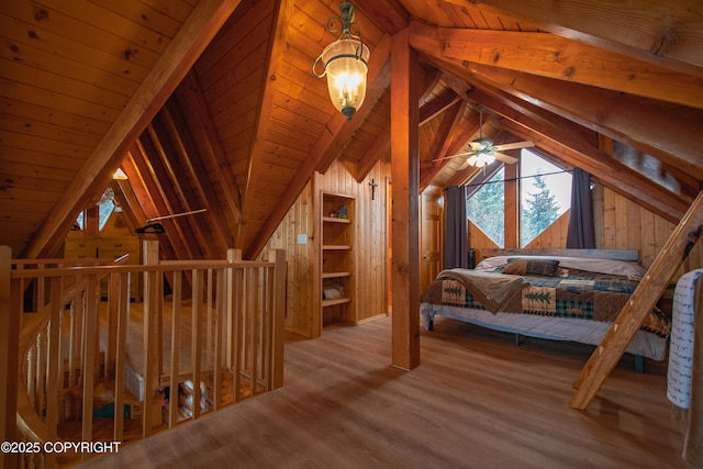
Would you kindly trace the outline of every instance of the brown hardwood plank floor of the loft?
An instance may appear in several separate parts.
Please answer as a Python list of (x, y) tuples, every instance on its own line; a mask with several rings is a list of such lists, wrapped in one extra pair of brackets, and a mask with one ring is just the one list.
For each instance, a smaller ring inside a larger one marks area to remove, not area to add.
[(282, 389), (83, 467), (688, 467), (666, 364), (636, 375), (623, 358), (582, 412), (568, 402), (592, 347), (435, 327), (412, 371), (390, 366), (390, 317), (289, 342)]

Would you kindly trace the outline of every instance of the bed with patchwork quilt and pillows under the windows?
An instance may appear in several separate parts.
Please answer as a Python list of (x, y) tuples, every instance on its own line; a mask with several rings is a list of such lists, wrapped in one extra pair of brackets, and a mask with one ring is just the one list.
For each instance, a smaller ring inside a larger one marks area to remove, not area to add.
[[(599, 345), (646, 272), (636, 253), (491, 249), (476, 269), (444, 270), (432, 281), (422, 321), (433, 331), (439, 314), (516, 337)], [(670, 331), (670, 316), (654, 308), (626, 349), (638, 371), (641, 357), (666, 358)]]

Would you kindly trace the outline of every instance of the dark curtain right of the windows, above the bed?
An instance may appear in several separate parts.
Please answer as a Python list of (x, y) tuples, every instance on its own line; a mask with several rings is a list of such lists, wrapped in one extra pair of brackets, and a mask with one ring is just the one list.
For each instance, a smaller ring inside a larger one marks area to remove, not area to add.
[(571, 210), (567, 230), (567, 248), (595, 248), (591, 175), (581, 168), (571, 171)]

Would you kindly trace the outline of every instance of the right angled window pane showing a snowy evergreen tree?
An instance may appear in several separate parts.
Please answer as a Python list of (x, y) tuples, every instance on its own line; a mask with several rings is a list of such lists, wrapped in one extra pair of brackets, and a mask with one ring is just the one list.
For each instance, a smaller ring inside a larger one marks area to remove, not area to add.
[(571, 206), (571, 175), (528, 149), (520, 157), (521, 247)]

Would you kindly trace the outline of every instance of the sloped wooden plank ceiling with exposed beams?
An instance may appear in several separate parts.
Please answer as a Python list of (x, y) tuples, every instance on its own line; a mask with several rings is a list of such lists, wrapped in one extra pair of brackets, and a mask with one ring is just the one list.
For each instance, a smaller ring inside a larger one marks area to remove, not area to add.
[[(371, 49), (350, 122), (312, 63), (330, 0), (14, 0), (0, 5), (0, 244), (55, 255), (112, 185), (169, 256), (255, 257), (314, 171), (357, 180), (390, 146), (390, 38), (420, 53), (421, 188), (462, 183), (479, 133), (531, 139), (565, 167), (678, 221), (703, 179), (698, 0), (359, 0)], [(483, 110), (483, 129), (479, 112)], [(122, 167), (129, 180), (111, 182)]]

